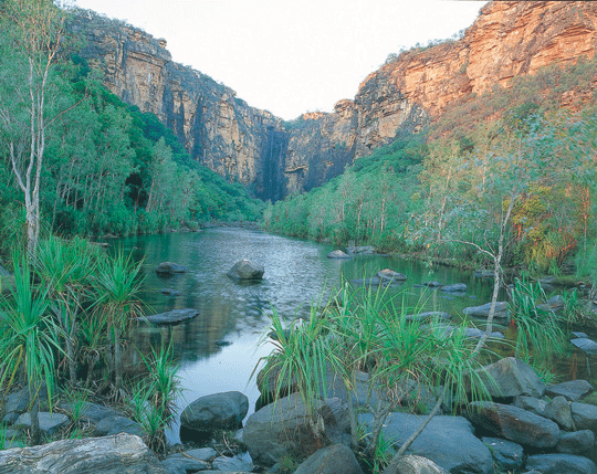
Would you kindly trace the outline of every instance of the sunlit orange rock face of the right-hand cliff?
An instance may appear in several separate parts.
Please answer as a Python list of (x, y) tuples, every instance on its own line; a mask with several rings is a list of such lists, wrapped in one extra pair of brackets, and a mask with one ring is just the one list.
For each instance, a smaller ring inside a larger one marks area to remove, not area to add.
[[(554, 62), (590, 59), (596, 36), (597, 2), (491, 2), (461, 40), (402, 53), (365, 78), (355, 99), (362, 126), (356, 156), (391, 140), (406, 110), (420, 107), (421, 117), (438, 117), (470, 93), (507, 87), (512, 77)], [(379, 96), (384, 88), (392, 93)], [(380, 122), (385, 126), (371, 127)]]

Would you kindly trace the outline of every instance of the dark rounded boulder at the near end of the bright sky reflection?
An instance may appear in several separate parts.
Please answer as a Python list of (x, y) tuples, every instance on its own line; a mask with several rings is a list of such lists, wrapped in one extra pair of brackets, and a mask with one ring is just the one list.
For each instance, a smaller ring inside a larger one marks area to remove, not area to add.
[(241, 392), (230, 391), (201, 397), (189, 404), (180, 415), (180, 424), (189, 430), (211, 433), (214, 430), (238, 430), (249, 411), (249, 399)]

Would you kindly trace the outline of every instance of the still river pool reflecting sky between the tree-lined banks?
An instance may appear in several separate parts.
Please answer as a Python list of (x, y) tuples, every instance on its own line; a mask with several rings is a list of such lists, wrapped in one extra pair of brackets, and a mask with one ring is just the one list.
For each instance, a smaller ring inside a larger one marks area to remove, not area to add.
[[(197, 398), (231, 390), (249, 397), (250, 413), (259, 391), (251, 372), (272, 346), (260, 345), (269, 331), (272, 307), (289, 320), (308, 314), (308, 306), (342, 278), (375, 275), (391, 268), (408, 276), (398, 289), (410, 304), (425, 302), (426, 310), (446, 310), (459, 315), (463, 307), (478, 306), (491, 299), (492, 282), (474, 278), (472, 272), (455, 268), (428, 268), (420, 262), (384, 255), (356, 255), (350, 260), (331, 260), (333, 245), (268, 234), (237, 228), (207, 229), (202, 232), (134, 236), (112, 241), (112, 249), (145, 255), (145, 282), (142, 297), (150, 306), (147, 314), (177, 308), (196, 308), (199, 316), (189, 323), (170, 327), (139, 326), (133, 344), (142, 352), (161, 341), (172, 340), (179, 361), (178, 375), (184, 388), (179, 411)], [(265, 268), (256, 284), (239, 284), (227, 272), (239, 260), (258, 262)], [(165, 278), (156, 274), (160, 262), (184, 265), (187, 273)], [(454, 296), (417, 287), (426, 281), (442, 284), (465, 283), (465, 295)], [(167, 296), (160, 289), (180, 292)], [(178, 426), (168, 433), (171, 443), (179, 441)]]

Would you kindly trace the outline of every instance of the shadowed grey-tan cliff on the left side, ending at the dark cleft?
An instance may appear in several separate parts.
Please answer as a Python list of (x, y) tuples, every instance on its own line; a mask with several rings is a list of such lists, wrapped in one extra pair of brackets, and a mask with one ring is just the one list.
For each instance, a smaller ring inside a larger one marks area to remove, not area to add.
[(282, 120), (250, 107), (230, 87), (171, 61), (166, 41), (122, 22), (81, 11), (72, 24), (85, 45), (81, 55), (103, 72), (124, 102), (155, 114), (193, 159), (262, 199), (280, 199), (279, 170), (287, 139)]

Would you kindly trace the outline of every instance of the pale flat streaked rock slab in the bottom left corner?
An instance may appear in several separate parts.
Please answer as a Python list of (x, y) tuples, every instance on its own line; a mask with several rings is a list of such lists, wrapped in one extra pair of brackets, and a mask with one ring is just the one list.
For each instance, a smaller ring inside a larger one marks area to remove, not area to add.
[(62, 440), (0, 451), (0, 474), (168, 474), (140, 438)]

